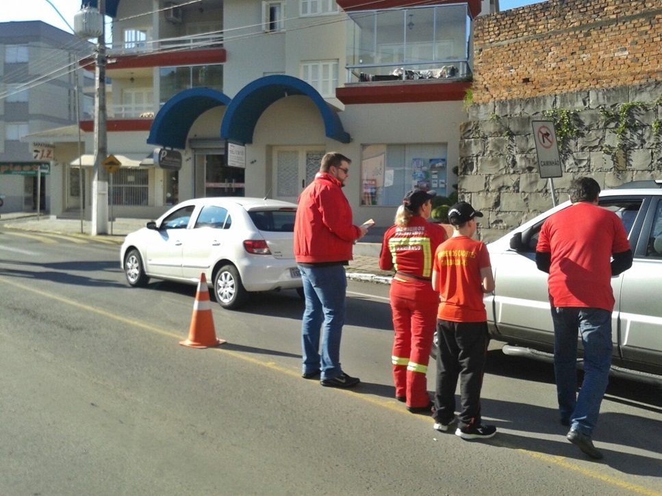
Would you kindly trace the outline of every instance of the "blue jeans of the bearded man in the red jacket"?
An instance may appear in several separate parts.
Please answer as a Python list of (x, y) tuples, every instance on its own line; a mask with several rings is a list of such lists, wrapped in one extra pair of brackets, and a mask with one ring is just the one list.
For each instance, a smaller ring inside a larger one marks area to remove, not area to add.
[[(340, 337), (345, 323), (347, 276), (345, 267), (298, 266), (303, 281), (306, 309), (301, 324), (303, 373), (321, 370), (322, 380), (342, 374)], [(322, 352), (320, 355), (320, 333)]]

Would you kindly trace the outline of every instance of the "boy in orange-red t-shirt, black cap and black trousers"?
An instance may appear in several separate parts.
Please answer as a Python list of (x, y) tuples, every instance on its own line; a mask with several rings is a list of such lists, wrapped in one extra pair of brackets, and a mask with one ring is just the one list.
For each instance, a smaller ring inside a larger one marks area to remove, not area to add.
[(460, 381), (461, 410), (455, 435), (487, 439), (494, 426), (481, 419), (481, 388), (487, 356), (487, 312), (483, 293), (494, 291), (489, 253), (474, 241), (476, 217), (483, 213), (466, 202), (448, 209), (453, 237), (435, 252), (432, 287), (440, 293), (437, 312), (437, 387), (434, 428), (448, 430), (455, 420), (455, 388)]

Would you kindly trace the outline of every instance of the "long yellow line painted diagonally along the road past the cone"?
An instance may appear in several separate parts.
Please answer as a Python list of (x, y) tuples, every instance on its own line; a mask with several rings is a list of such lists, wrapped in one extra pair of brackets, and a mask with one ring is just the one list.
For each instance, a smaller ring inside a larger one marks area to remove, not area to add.
[[(103, 317), (107, 317), (108, 319), (116, 320), (118, 322), (123, 322), (124, 324), (129, 324), (130, 326), (136, 326), (138, 328), (142, 328), (144, 330), (149, 330), (150, 332), (155, 332), (156, 334), (166, 336), (166, 337), (171, 337), (173, 339), (177, 339), (178, 341), (181, 340), (181, 334), (176, 334), (175, 332), (171, 332), (169, 330), (164, 330), (162, 328), (158, 328), (155, 326), (149, 326), (147, 324), (143, 324), (142, 322), (134, 319), (127, 319), (126, 317), (120, 317), (116, 313), (112, 313), (109, 311), (105, 310), (100, 310), (97, 308), (94, 308), (93, 306), (89, 306), (83, 303), (75, 302), (73, 300), (69, 300), (68, 298), (63, 298), (62, 296), (57, 296), (53, 293), (47, 293), (46, 291), (40, 291), (39, 289), (35, 289), (34, 287), (30, 286), (25, 286), (19, 283), (14, 282), (14, 280), (10, 280), (8, 278), (4, 278), (0, 276), (0, 281), (3, 282), (3, 284), (7, 284), (10, 286), (14, 286), (18, 289), (21, 289), (23, 291), (30, 291), (31, 293), (35, 293), (39, 296), (44, 296), (45, 298), (51, 298), (52, 300), (56, 300), (61, 303), (69, 304), (71, 306), (75, 306), (81, 310), (89, 311), (91, 313), (96, 313), (97, 315), (102, 315)], [(365, 293), (354, 293), (357, 295), (361, 296), (370, 296), (371, 298), (383, 298), (383, 297), (374, 297), (372, 295), (368, 295)], [(387, 298), (385, 298), (387, 299)], [(212, 351), (222, 353), (222, 354), (227, 354), (229, 356), (233, 356), (234, 358), (238, 358), (239, 360), (242, 360), (244, 362), (252, 363), (253, 365), (258, 365), (260, 367), (266, 367), (270, 370), (281, 372), (283, 374), (286, 374), (288, 376), (294, 377), (294, 378), (300, 378), (300, 373), (295, 372), (292, 369), (282, 367), (281, 365), (277, 365), (275, 362), (264, 362), (259, 360), (258, 358), (253, 358), (252, 356), (248, 356), (245, 353), (242, 352), (234, 352), (232, 350), (224, 350), (222, 348), (222, 345), (220, 347), (216, 348), (209, 348)], [(385, 406), (389, 410), (393, 410), (394, 412), (402, 413), (403, 415), (406, 415), (407, 417), (411, 418), (411, 413), (407, 412), (404, 408), (402, 408), (401, 403), (396, 403), (394, 399), (389, 399), (389, 400), (381, 400), (381, 399), (376, 399), (376, 398), (371, 398), (366, 395), (357, 395), (356, 393), (353, 393), (351, 389), (336, 389), (335, 391), (338, 391), (338, 393), (344, 393), (348, 395), (352, 395), (355, 397), (357, 400), (361, 400), (367, 403), (371, 404), (376, 404), (379, 406)], [(417, 416), (418, 417), (418, 416)], [(422, 417), (421, 417), (422, 418)], [(430, 423), (431, 419), (427, 418), (424, 419), (426, 423)], [(500, 447), (506, 447), (508, 449), (515, 449), (517, 452), (525, 454), (526, 456), (530, 456), (531, 458), (535, 458), (537, 460), (542, 460), (547, 463), (551, 463), (553, 465), (557, 465), (559, 467), (563, 467), (564, 469), (568, 469), (577, 473), (580, 473), (581, 475), (585, 475), (588, 478), (591, 479), (596, 479), (600, 480), (602, 482), (606, 482), (607, 484), (612, 484), (613, 486), (617, 486), (619, 488), (627, 489), (628, 491), (632, 491), (633, 493), (641, 494), (641, 495), (646, 495), (646, 496), (662, 496), (662, 493), (658, 493), (657, 491), (652, 491), (648, 488), (641, 487), (641, 486), (636, 486), (635, 484), (629, 484), (628, 482), (625, 482), (623, 480), (619, 480), (613, 477), (609, 477), (608, 475), (602, 475), (601, 473), (598, 473), (593, 470), (588, 470), (584, 469), (578, 465), (574, 465), (572, 462), (568, 461), (567, 458), (564, 458), (563, 456), (551, 456), (547, 455), (544, 453), (539, 453), (539, 452), (532, 452), (529, 451), (528, 449), (522, 449), (518, 448), (515, 445), (511, 445), (510, 443), (503, 443), (500, 442), (498, 437), (496, 439), (490, 440), (492, 445), (500, 446)]]

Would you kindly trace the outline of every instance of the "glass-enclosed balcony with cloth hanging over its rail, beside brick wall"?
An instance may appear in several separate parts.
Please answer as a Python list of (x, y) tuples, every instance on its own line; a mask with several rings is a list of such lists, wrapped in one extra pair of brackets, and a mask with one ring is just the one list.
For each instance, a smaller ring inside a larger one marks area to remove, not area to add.
[(346, 83), (472, 76), (466, 3), (351, 12)]

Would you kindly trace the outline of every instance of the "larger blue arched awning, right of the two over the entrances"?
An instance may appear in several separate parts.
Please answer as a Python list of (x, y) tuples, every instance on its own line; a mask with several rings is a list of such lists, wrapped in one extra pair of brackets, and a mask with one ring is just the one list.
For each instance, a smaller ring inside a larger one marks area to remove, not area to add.
[(327, 138), (349, 143), (351, 138), (342, 128), (340, 116), (308, 83), (292, 76), (273, 75), (256, 79), (235, 96), (225, 111), (220, 137), (242, 144), (253, 142), (253, 131), (262, 112), (275, 101), (288, 95), (305, 95), (322, 114)]

